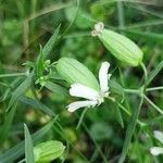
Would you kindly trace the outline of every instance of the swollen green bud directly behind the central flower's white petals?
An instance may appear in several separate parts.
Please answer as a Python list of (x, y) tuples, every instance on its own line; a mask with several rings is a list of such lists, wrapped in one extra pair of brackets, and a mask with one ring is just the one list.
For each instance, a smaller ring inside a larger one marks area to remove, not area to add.
[(71, 85), (79, 83), (96, 90), (100, 89), (93, 74), (75, 59), (61, 58), (55, 67), (61, 77)]

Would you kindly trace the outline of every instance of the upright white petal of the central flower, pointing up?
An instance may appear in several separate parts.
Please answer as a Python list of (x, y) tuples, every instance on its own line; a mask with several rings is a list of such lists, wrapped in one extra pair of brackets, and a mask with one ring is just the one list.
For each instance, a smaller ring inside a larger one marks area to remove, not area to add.
[(103, 62), (99, 71), (99, 82), (100, 82), (100, 88), (102, 92), (109, 90), (108, 80), (111, 77), (111, 74), (108, 74), (109, 67), (110, 67), (110, 63)]

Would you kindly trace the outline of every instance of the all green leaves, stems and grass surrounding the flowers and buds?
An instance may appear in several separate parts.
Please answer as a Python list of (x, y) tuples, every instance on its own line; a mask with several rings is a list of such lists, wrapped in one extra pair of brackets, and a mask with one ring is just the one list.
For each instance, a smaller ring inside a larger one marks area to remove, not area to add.
[[(65, 148), (55, 162), (161, 162), (149, 149), (153, 130), (163, 130), (162, 9), (161, 1), (0, 1), (0, 162), (34, 159), (33, 148), (51, 140)], [(134, 40), (143, 64), (113, 58), (91, 37), (98, 22)], [(55, 67), (61, 58), (93, 75), (110, 62), (110, 98), (68, 113), (74, 99)]]

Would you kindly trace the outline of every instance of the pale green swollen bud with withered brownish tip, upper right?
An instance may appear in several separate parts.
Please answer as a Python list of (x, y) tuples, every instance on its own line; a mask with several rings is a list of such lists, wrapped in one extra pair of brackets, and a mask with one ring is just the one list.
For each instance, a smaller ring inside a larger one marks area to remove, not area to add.
[(98, 36), (104, 47), (123, 63), (137, 66), (142, 61), (142, 51), (127, 37), (104, 28), (102, 22), (95, 25), (92, 36)]

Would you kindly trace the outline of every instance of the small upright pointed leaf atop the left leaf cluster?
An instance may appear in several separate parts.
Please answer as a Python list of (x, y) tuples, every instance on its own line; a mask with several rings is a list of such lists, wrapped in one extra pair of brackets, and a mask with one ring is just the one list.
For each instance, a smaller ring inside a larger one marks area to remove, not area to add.
[(42, 47), (40, 46), (39, 55), (36, 62), (36, 74), (37, 77), (40, 77), (43, 75), (43, 57), (42, 57)]

